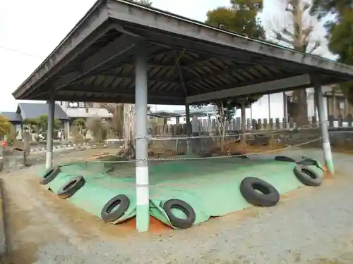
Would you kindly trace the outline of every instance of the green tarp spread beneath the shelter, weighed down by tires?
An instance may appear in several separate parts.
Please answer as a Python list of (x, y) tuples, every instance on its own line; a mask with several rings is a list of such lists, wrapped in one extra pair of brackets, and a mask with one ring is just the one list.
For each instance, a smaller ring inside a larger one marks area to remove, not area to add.
[[(210, 158), (191, 161), (150, 162), (150, 215), (170, 225), (162, 205), (181, 199), (196, 212), (194, 225), (251, 206), (241, 196), (239, 184), (244, 177), (258, 177), (285, 194), (303, 184), (295, 177), (294, 163), (270, 159)], [(318, 175), (322, 168), (311, 166)], [(71, 178), (85, 177), (85, 185), (68, 200), (100, 218), (104, 204), (118, 194), (131, 200), (124, 221), (136, 215), (135, 163), (70, 163), (48, 184), (56, 192)], [(182, 217), (181, 212), (174, 211)], [(116, 223), (115, 222), (115, 223)]]

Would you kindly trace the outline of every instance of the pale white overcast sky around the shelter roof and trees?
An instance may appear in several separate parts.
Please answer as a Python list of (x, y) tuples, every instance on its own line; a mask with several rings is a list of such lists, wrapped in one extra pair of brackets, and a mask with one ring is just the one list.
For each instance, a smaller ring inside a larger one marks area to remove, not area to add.
[[(274, 1), (265, 0), (265, 25), (280, 25)], [(206, 13), (229, 0), (153, 0), (153, 6), (187, 18), (204, 21)], [(12, 92), (22, 84), (59, 44), (95, 0), (0, 0), (0, 112), (16, 111)], [(275, 14), (276, 16), (273, 16)], [(318, 32), (323, 30), (318, 27)], [(322, 56), (330, 56), (327, 49)], [(180, 106), (177, 108), (184, 108)], [(154, 110), (171, 110), (157, 106)]]

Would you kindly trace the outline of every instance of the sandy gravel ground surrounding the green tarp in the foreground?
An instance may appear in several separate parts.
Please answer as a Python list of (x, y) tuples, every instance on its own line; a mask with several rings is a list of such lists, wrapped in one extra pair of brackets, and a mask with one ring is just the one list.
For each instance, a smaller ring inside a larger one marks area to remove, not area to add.
[[(315, 150), (290, 153), (321, 156)], [(137, 234), (133, 223), (104, 225), (57, 199), (37, 184), (37, 166), (8, 173), (11, 263), (352, 264), (353, 156), (334, 158), (334, 180), (283, 196), (275, 207), (213, 218), (189, 230), (155, 225), (148, 234)]]

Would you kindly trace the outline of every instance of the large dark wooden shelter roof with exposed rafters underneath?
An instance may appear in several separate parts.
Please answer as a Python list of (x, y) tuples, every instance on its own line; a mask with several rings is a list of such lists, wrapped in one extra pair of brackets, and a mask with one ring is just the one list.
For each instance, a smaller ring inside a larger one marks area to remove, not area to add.
[[(135, 102), (136, 53), (148, 100), (196, 103), (351, 80), (353, 68), (126, 0), (99, 0), (15, 92), (16, 99)], [(50, 87), (50, 89), (49, 89)]]

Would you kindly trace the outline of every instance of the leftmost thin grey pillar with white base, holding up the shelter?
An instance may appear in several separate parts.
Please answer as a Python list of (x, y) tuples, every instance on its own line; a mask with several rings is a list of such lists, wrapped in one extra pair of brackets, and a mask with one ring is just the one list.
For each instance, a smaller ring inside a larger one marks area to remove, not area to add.
[(54, 92), (50, 93), (48, 104), (48, 131), (47, 131), (47, 153), (45, 159), (45, 168), (49, 170), (53, 166), (53, 136), (54, 136), (54, 111), (55, 101)]

